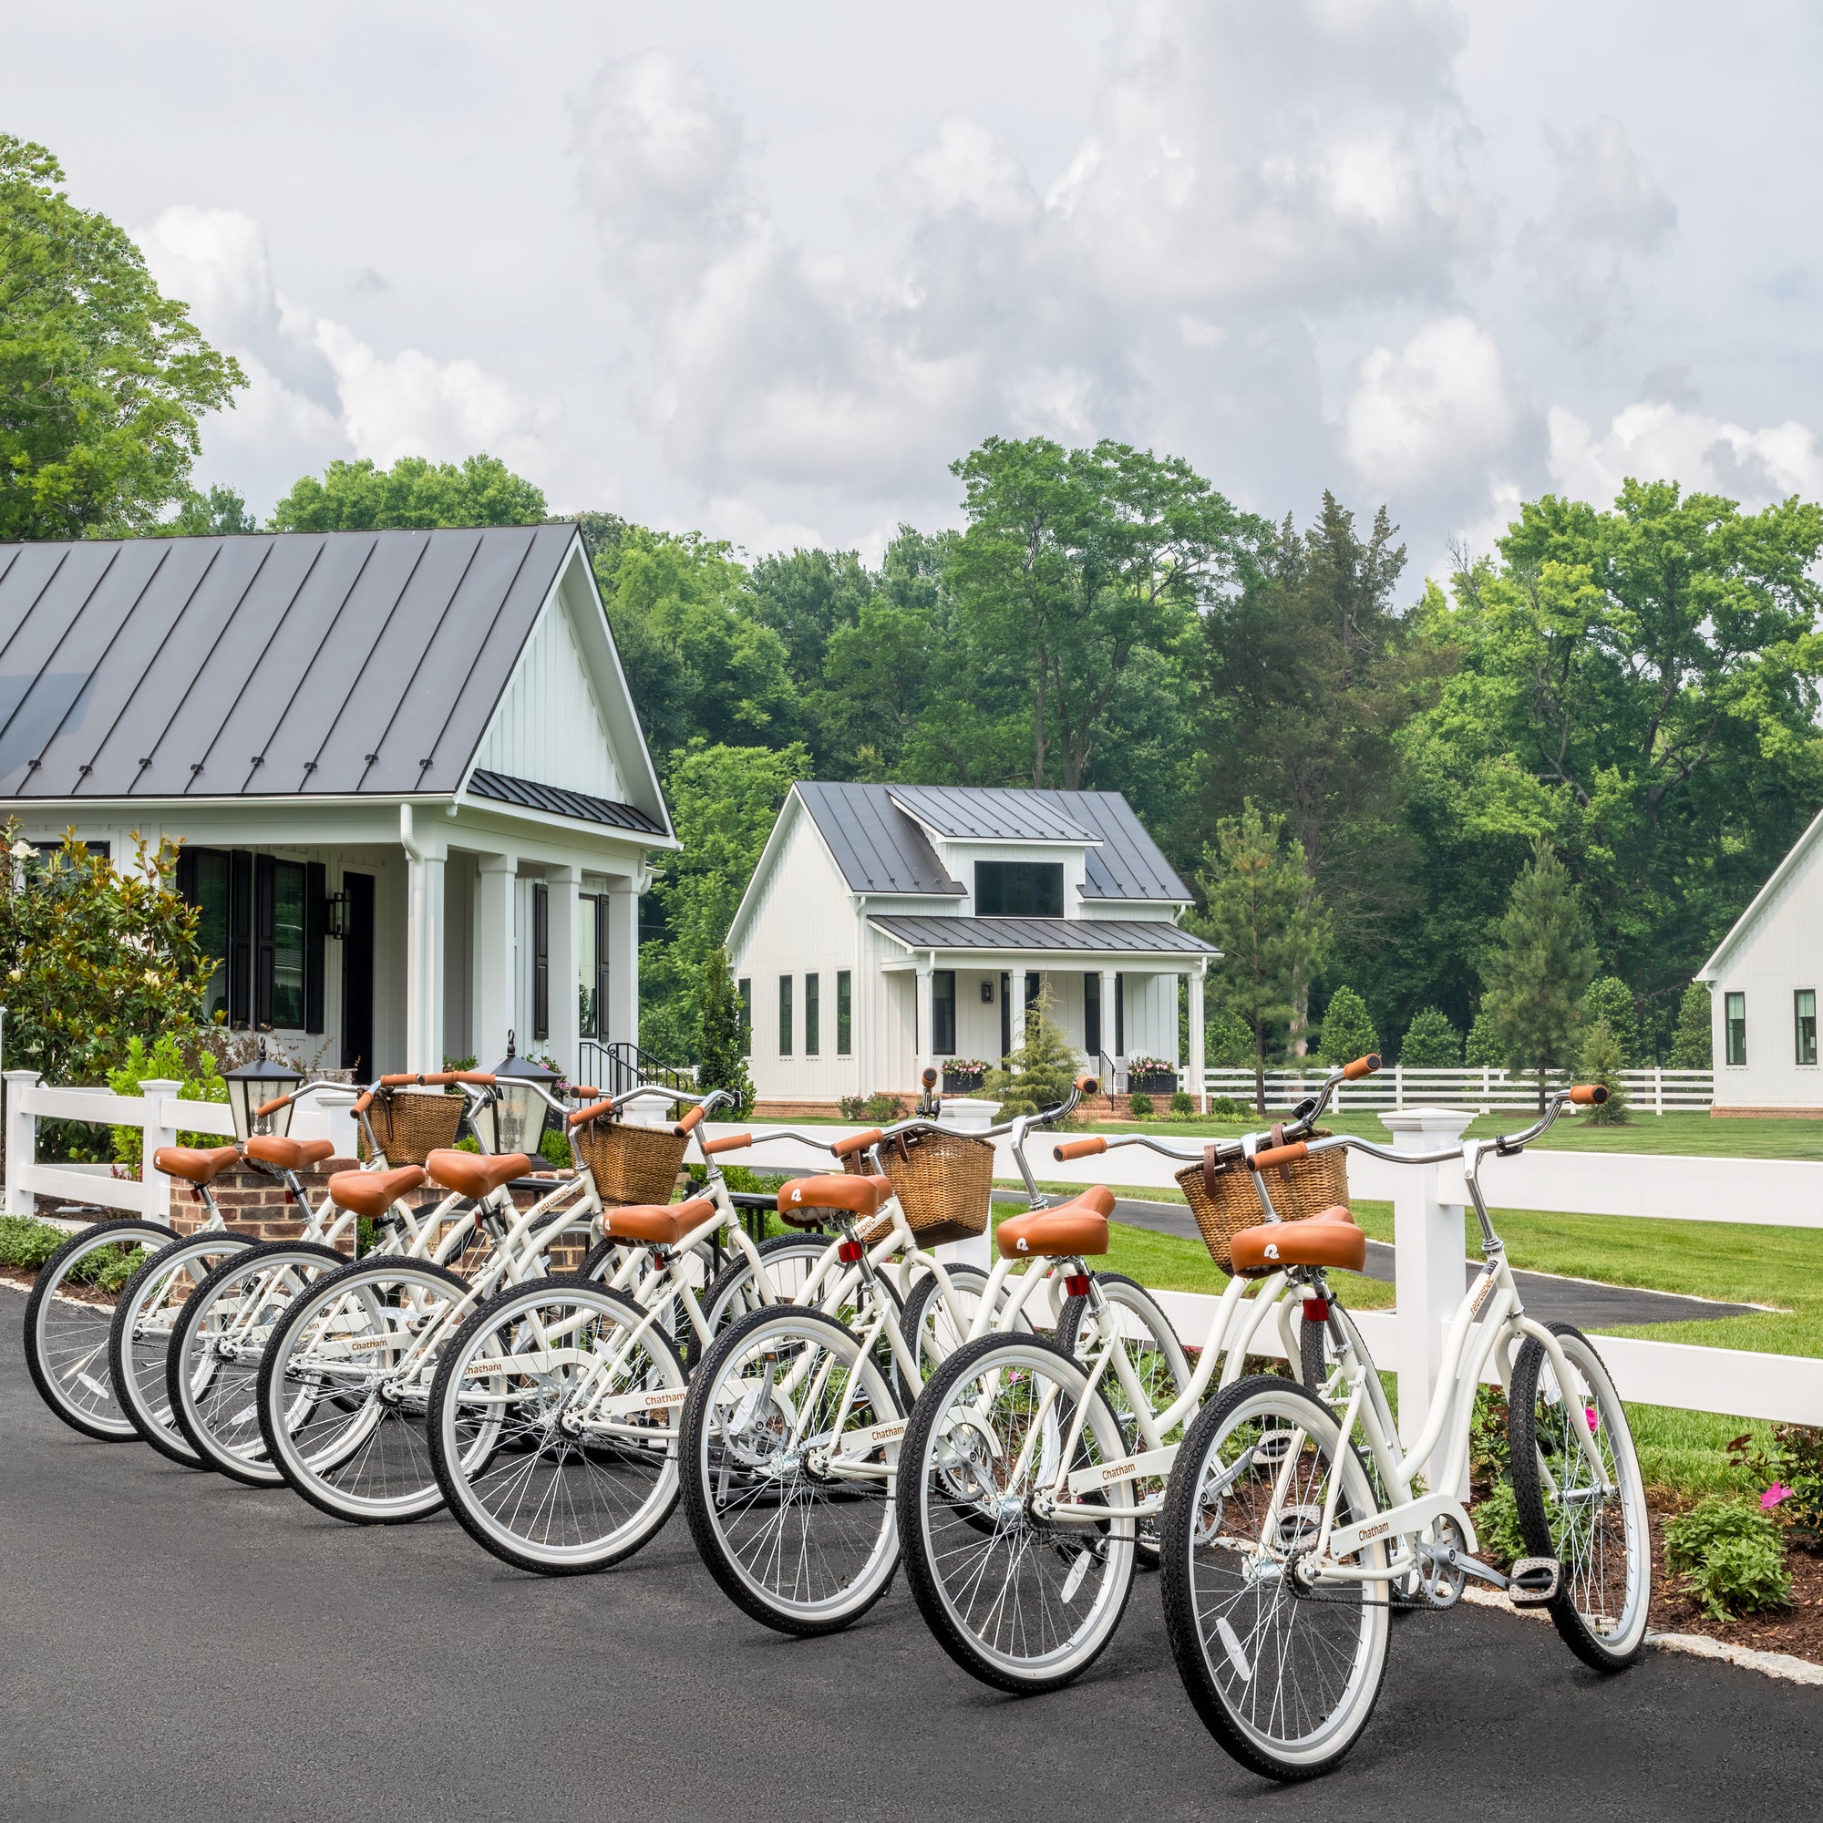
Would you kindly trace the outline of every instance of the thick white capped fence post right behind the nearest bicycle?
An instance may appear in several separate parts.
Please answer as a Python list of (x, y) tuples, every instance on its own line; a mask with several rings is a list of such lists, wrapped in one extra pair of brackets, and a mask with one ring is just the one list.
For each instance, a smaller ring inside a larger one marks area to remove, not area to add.
[[(1382, 1114), (1400, 1152), (1440, 1152), (1475, 1119), (1462, 1108)], [(1462, 1303), (1462, 1203), (1437, 1200), (1437, 1167), (1407, 1165), (1393, 1196), (1393, 1272), (1398, 1282), (1398, 1435), (1409, 1449), (1424, 1429), (1442, 1367), (1444, 1331)], [(1468, 1489), (1462, 1489), (1468, 1497)]]

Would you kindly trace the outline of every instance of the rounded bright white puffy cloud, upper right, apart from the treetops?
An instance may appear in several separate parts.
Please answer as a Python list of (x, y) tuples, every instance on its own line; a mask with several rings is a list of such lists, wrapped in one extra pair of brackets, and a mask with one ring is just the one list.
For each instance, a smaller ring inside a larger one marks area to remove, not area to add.
[(1493, 337), (1469, 317), (1438, 317), (1396, 354), (1375, 348), (1360, 363), (1342, 447), (1375, 490), (1413, 487), (1493, 458), (1515, 417)]

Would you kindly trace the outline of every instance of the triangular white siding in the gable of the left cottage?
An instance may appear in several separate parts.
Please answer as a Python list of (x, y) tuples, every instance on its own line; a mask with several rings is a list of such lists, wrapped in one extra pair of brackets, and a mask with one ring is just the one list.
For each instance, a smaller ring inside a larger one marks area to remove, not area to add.
[(561, 589), (551, 591), (474, 764), (614, 804), (629, 798)]

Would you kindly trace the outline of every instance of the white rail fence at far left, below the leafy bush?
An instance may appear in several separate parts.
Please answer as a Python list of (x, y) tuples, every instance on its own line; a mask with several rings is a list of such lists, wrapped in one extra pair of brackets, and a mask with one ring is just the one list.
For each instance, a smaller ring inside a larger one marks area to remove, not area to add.
[[(5, 1072), (5, 1212), (33, 1214), (38, 1196), (67, 1203), (95, 1203), (122, 1214), (168, 1221), (171, 1179), (151, 1163), (160, 1145), (177, 1145), (179, 1132), (233, 1138), (226, 1101), (184, 1101), (182, 1083), (146, 1081), (137, 1096), (106, 1088), (53, 1088), (36, 1070)], [(292, 1138), (332, 1139), (341, 1156), (354, 1152), (354, 1121), (348, 1108), (355, 1090), (328, 1088), (297, 1105)], [(38, 1121), (89, 1121), (98, 1127), (137, 1127), (140, 1132), (139, 1181), (109, 1176), (106, 1167), (44, 1165), (38, 1161)]]

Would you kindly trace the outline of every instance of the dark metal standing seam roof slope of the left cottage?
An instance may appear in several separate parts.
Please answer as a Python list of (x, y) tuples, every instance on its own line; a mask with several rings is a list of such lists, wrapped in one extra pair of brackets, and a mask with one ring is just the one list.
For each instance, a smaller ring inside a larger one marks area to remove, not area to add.
[(0, 797), (454, 793), (569, 525), (0, 547)]

